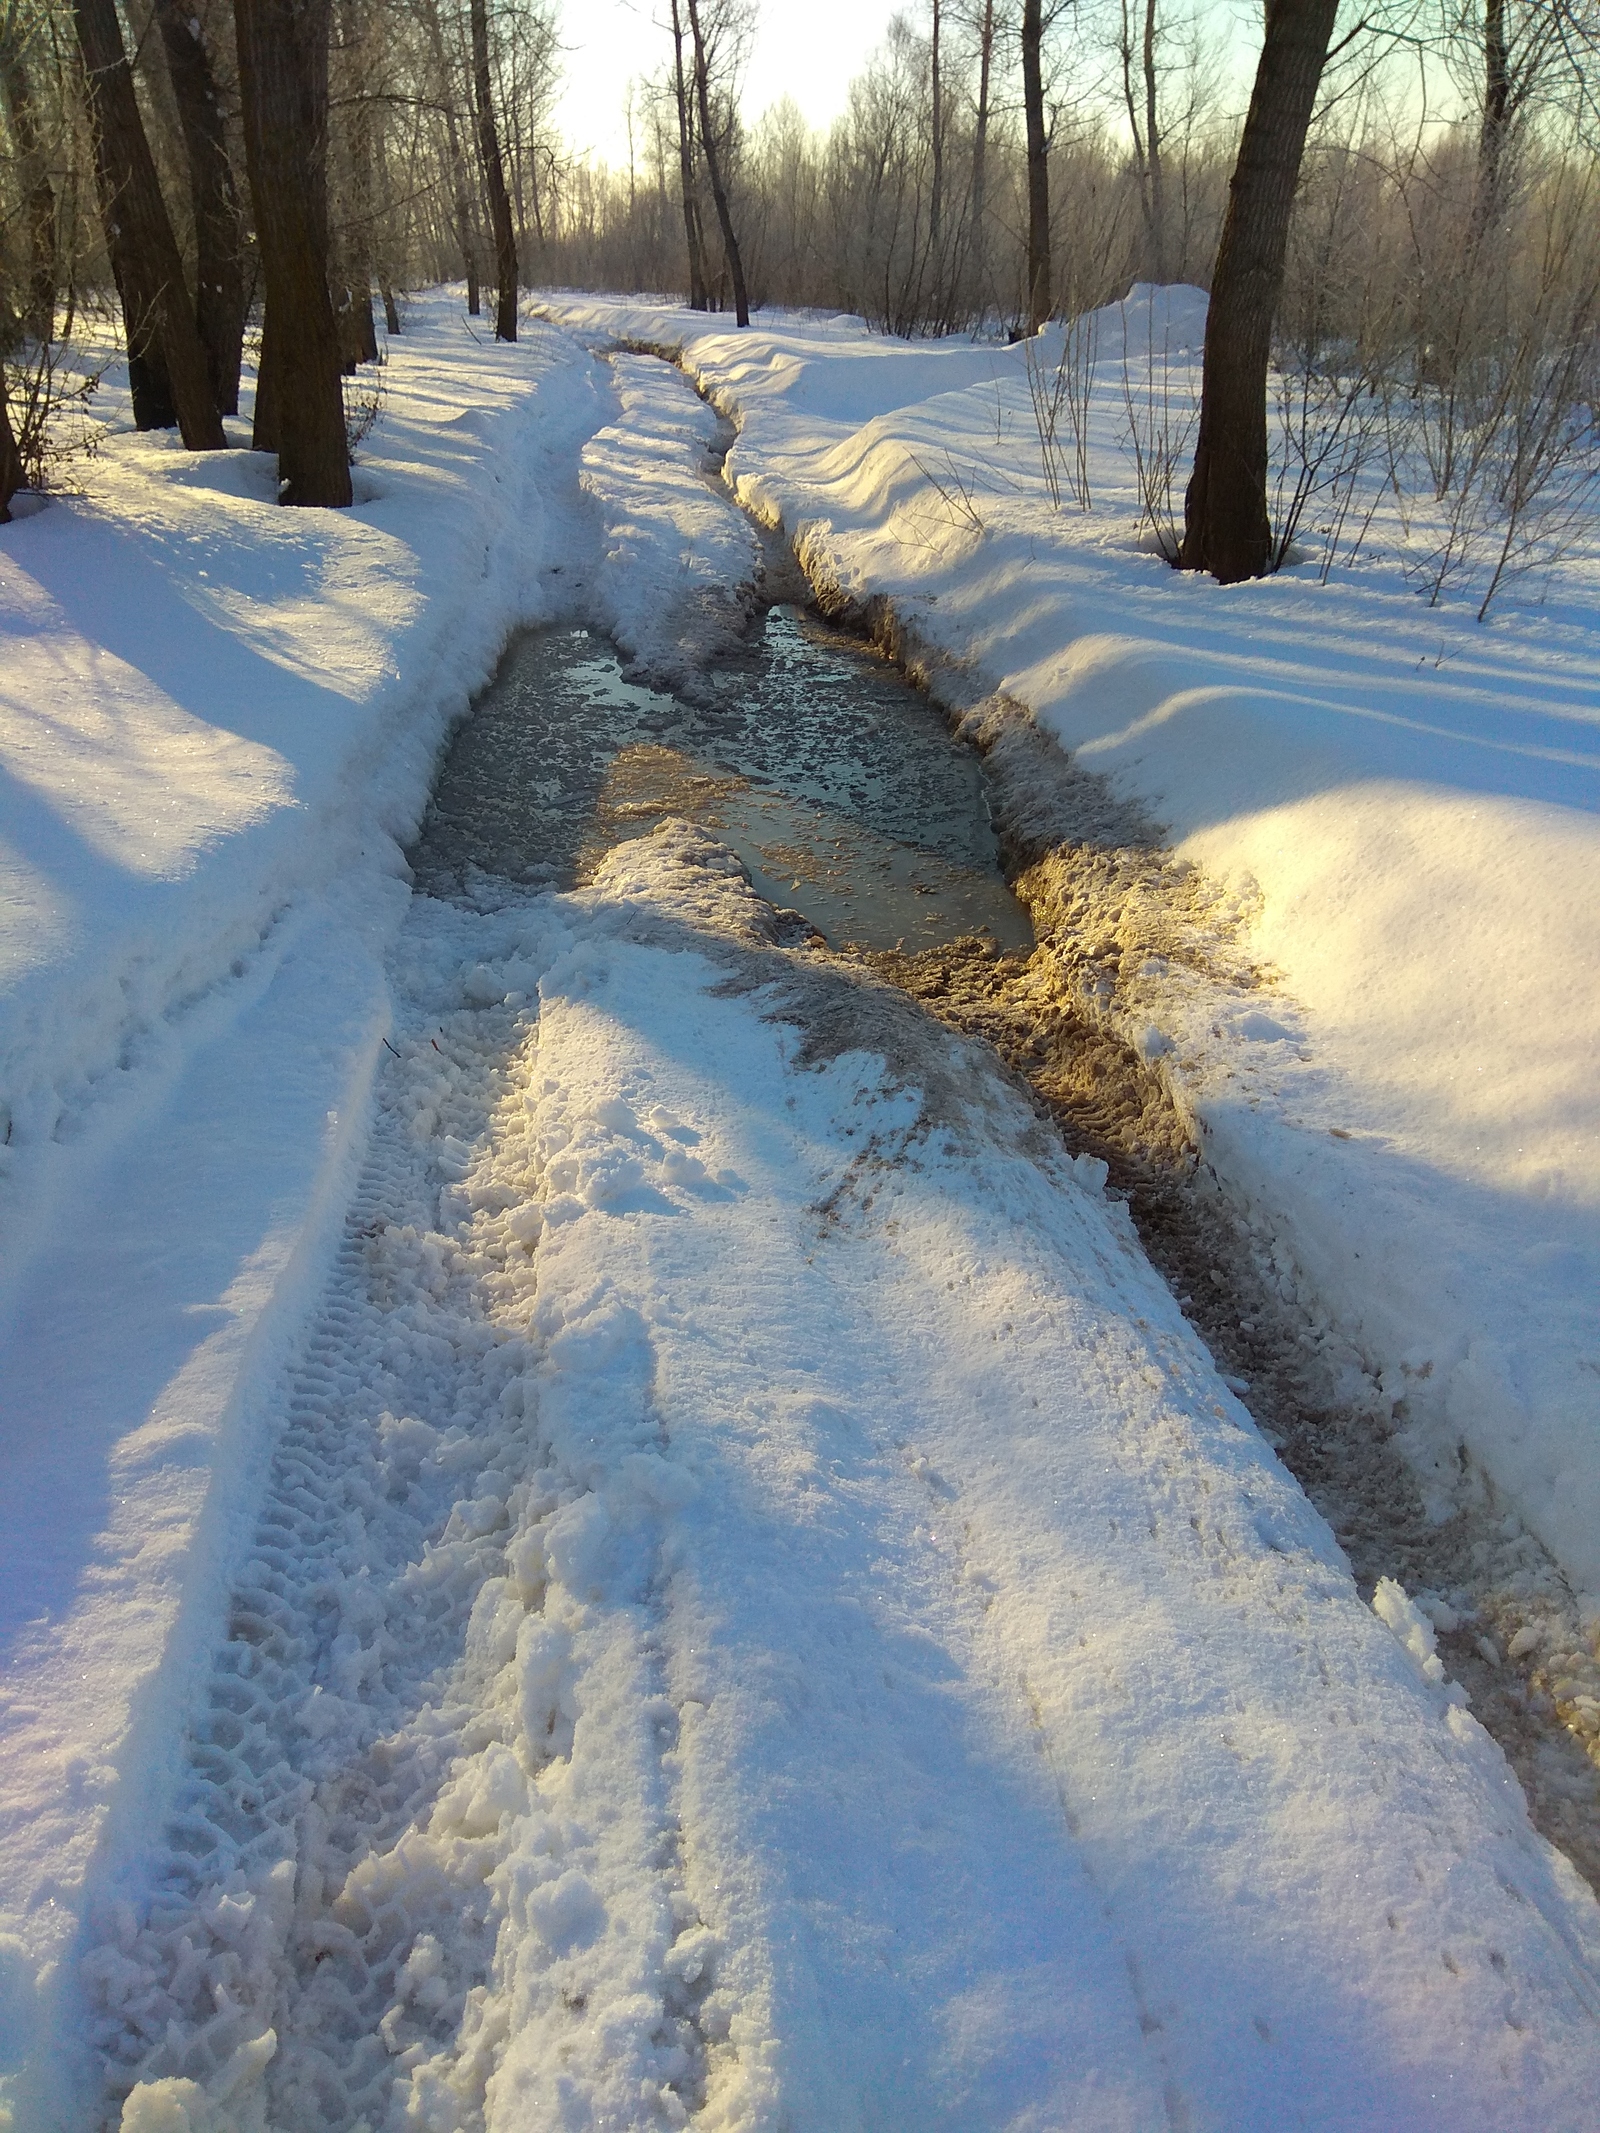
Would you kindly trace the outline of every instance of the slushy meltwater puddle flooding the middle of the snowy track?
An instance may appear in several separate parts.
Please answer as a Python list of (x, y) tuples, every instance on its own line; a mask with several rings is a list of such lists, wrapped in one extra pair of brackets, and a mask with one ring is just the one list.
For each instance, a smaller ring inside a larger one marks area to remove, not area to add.
[(433, 896), (493, 894), (497, 879), (567, 889), (666, 815), (736, 851), (762, 896), (832, 945), (1033, 945), (973, 751), (887, 661), (789, 606), (695, 704), (625, 680), (595, 631), (516, 638), (410, 857)]

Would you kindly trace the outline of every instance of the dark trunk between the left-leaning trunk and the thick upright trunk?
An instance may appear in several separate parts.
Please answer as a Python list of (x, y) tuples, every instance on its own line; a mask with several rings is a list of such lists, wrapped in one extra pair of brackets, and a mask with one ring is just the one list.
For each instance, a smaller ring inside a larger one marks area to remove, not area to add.
[(198, 17), (183, 0), (156, 0), (166, 49), (194, 207), (194, 322), (205, 343), (211, 397), (220, 414), (239, 414), (239, 358), (245, 339), (245, 264), (239, 188), (233, 181), (222, 98)]

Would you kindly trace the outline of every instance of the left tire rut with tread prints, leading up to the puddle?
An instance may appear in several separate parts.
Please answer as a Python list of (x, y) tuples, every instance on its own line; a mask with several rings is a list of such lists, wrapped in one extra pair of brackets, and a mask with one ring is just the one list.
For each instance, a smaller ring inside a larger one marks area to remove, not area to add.
[[(130, 2133), (480, 2127), (512, 2028), (512, 2090), (544, 2086), (555, 2026), (580, 2086), (587, 2063), (597, 2095), (646, 2099), (638, 2122), (700, 2095), (651, 1502), (631, 1527), (597, 1508), (546, 1457), (531, 1384), (525, 992), (553, 932), (550, 904), (407, 921), (401, 1043), (179, 1805), (83, 1967), (102, 2118)], [(610, 1382), (649, 1438), (649, 1342), (604, 1310), (576, 1340), (631, 1344)], [(636, 1589), (595, 1610), (576, 1591), (608, 1546)]]

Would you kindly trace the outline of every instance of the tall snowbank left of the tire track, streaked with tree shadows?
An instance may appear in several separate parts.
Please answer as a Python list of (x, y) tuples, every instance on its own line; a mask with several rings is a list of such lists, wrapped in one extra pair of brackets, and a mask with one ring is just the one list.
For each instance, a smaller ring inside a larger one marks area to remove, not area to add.
[(570, 341), (444, 301), (386, 399), (352, 512), (113, 422), (0, 531), (0, 2116), (94, 1860), (166, 1796), (363, 1152), (395, 840), (610, 410)]

